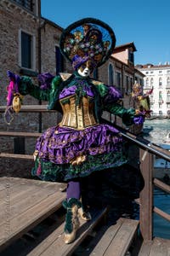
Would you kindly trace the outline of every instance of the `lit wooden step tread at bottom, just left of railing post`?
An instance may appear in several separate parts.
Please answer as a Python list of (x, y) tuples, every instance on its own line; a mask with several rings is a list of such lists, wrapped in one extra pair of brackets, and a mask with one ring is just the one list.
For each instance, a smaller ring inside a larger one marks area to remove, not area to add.
[[(106, 231), (105, 235), (101, 238), (101, 240), (103, 240), (103, 244), (99, 241), (99, 245), (94, 248), (93, 253), (90, 255), (123, 256), (127, 253), (127, 249), (130, 247), (133, 241), (133, 236), (138, 229), (139, 221), (127, 218), (124, 218), (121, 221), (122, 223), (116, 232), (114, 229), (113, 233), (111, 232), (111, 229)], [(107, 242), (108, 238), (110, 240), (109, 245), (105, 248), (105, 252), (102, 252), (102, 247), (100, 247), (100, 245), (103, 246)]]

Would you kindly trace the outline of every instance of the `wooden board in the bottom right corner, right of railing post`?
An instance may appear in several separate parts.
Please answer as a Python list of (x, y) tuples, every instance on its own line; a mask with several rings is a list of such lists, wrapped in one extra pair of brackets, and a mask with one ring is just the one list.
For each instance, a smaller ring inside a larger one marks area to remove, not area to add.
[(150, 256), (169, 256), (170, 255), (170, 240), (154, 238)]

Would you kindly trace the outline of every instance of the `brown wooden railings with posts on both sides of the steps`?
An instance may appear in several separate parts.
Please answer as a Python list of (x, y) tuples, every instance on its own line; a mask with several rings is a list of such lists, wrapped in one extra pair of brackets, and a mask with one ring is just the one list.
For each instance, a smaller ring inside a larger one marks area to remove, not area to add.
[[(0, 107), (0, 112), (4, 112), (5, 107)], [(21, 112), (48, 112), (47, 106), (45, 105), (35, 105), (35, 106), (23, 106), (20, 110)], [(104, 122), (113, 125), (111, 122), (103, 119)], [(153, 155), (157, 155), (162, 159), (170, 161), (170, 152), (166, 149), (157, 146), (154, 143), (150, 143), (149, 141), (145, 140), (143, 137), (137, 137), (132, 133), (122, 129), (117, 125), (119, 131), (122, 133), (122, 137), (126, 138), (129, 143), (136, 144), (139, 147), (139, 160), (140, 160), (140, 169), (142, 175), (144, 177), (144, 189), (141, 191), (139, 200), (139, 220), (140, 220), (140, 232), (144, 238), (144, 241), (150, 241), (153, 239), (153, 212), (159, 214), (162, 218), (167, 219), (170, 221), (170, 215), (167, 212), (163, 212), (161, 209), (154, 207), (153, 205), (153, 190), (156, 186), (159, 189), (166, 191), (167, 193), (170, 192), (170, 186), (162, 183), (160, 180), (153, 178)], [(38, 134), (38, 133), (37, 133)], [(35, 137), (37, 137), (37, 134)], [(34, 137), (33, 134), (28, 134), (28, 137)], [(22, 132), (7, 132), (1, 131), (0, 136), (13, 136), (13, 137), (22, 137), (27, 136), (26, 133)], [(9, 157), (9, 154), (0, 154), (1, 157)], [(11, 155), (14, 158), (14, 154)], [(18, 155), (18, 158), (19, 155)], [(32, 159), (32, 158), (31, 158)]]

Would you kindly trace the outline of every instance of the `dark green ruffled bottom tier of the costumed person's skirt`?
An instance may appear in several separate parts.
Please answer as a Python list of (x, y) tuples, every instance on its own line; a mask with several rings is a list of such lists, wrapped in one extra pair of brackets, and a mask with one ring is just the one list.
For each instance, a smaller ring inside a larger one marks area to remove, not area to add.
[[(125, 153), (110, 152), (108, 154), (88, 155), (88, 159), (80, 166), (71, 164), (56, 165), (52, 162), (45, 162), (37, 158), (35, 167), (31, 173), (42, 180), (66, 182), (72, 178), (86, 177), (92, 172), (105, 170), (116, 166), (122, 166), (127, 162)], [(37, 168), (41, 165), (41, 174), (37, 175)]]

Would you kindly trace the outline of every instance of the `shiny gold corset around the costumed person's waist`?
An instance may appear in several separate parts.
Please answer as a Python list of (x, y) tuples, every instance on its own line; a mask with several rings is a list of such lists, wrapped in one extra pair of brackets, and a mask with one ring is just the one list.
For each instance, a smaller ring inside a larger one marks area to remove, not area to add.
[[(63, 119), (60, 122), (61, 126), (83, 130), (89, 126), (97, 125), (94, 118), (94, 102), (91, 97), (82, 96), (82, 101), (79, 106), (76, 105), (76, 96), (69, 96), (68, 101), (60, 100), (63, 109)], [(64, 99), (65, 100), (65, 99)]]

